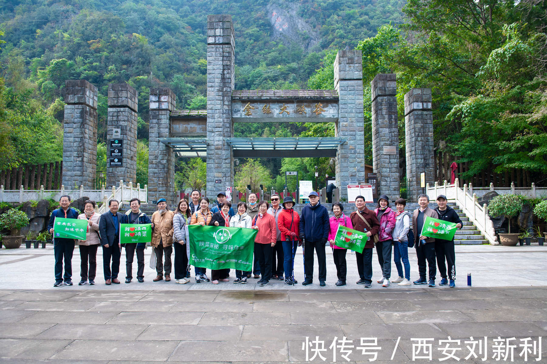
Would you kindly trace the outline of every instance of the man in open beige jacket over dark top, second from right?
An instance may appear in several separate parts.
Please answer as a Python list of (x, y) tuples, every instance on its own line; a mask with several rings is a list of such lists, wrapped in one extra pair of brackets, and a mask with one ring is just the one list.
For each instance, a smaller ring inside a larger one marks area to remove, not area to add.
[[(414, 281), (414, 284), (429, 283), (429, 287), (435, 287), (435, 275), (437, 275), (437, 264), (435, 263), (435, 238), (420, 236), (423, 228), (423, 222), (426, 216), (439, 218), (437, 211), (429, 208), (429, 196), (421, 194), (418, 196), (418, 205), (420, 207), (414, 210), (412, 214), (412, 230), (414, 230), (416, 256), (418, 258), (418, 272), (420, 278)], [(426, 280), (426, 260), (429, 265), (429, 282)]]

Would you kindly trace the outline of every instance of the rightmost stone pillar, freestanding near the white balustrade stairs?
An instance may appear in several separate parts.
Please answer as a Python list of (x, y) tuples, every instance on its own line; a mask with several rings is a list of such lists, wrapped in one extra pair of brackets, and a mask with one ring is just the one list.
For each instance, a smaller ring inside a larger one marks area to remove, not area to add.
[(435, 181), (431, 100), (430, 88), (411, 88), (405, 94), (406, 181), (410, 201), (422, 193), (422, 172), (426, 173), (426, 183), (432, 185)]

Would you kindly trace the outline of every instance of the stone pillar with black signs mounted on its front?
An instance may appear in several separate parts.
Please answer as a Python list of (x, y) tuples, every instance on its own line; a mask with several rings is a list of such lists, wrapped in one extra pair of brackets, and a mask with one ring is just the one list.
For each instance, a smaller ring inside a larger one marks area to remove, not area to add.
[[(108, 85), (107, 168), (106, 186), (137, 183), (137, 90), (127, 83)], [(120, 135), (114, 134), (120, 129)], [(121, 148), (110, 148), (110, 141), (121, 140)], [(118, 159), (118, 161), (114, 160)], [(121, 166), (117, 166), (120, 163)], [(112, 165), (111, 165), (112, 162)], [(144, 187), (144, 186), (143, 186)]]

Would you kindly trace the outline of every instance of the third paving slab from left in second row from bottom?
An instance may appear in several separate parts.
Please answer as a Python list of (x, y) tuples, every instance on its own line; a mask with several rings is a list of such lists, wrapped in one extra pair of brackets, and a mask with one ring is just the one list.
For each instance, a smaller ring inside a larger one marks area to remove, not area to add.
[(150, 325), (137, 340), (239, 341), (243, 326)]

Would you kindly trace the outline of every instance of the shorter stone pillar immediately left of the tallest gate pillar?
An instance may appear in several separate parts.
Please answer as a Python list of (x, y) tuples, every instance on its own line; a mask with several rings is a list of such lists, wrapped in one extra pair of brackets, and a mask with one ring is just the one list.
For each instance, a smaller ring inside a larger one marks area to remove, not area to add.
[(175, 109), (174, 93), (167, 87), (150, 88), (150, 122), (148, 132), (148, 200), (165, 198), (170, 206), (174, 201), (174, 153), (159, 141), (170, 138), (169, 116)]

